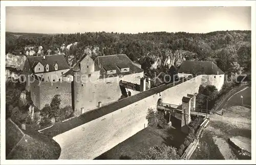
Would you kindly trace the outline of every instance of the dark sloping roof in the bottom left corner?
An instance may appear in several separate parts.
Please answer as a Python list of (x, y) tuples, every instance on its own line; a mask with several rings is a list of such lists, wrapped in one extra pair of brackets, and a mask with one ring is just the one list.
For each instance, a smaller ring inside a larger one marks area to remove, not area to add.
[(6, 159), (58, 159), (60, 151), (52, 138), (6, 120)]

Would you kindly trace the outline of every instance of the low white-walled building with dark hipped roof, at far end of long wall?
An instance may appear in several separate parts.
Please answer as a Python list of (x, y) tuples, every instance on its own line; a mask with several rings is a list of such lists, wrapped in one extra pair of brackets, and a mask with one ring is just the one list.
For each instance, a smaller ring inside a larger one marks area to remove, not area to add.
[(178, 77), (190, 75), (202, 75), (201, 85), (215, 85), (218, 90), (221, 90), (224, 84), (225, 73), (211, 61), (183, 61), (178, 70)]

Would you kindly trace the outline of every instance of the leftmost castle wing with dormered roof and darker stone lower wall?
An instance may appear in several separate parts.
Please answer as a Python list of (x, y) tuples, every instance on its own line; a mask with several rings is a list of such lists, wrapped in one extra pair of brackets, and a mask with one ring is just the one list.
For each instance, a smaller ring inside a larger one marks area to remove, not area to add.
[(72, 105), (71, 82), (62, 79), (69, 70), (63, 55), (27, 57), (23, 73), (26, 75), (26, 89), (30, 91), (36, 108), (44, 108), (54, 96), (60, 98), (60, 107)]

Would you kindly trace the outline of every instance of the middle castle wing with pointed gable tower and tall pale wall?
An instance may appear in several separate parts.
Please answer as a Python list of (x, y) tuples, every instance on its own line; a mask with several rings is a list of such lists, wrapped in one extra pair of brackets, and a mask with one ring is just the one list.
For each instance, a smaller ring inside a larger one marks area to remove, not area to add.
[[(126, 55), (84, 56), (73, 67), (74, 111), (76, 115), (118, 101), (122, 97), (120, 81), (140, 84), (143, 70)], [(127, 89), (126, 92), (139, 91)]]

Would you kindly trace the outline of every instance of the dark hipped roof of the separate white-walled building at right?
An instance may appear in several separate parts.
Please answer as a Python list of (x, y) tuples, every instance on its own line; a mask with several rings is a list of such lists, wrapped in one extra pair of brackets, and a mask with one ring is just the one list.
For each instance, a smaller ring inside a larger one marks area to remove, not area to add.
[(211, 61), (183, 61), (179, 73), (222, 75), (224, 72)]

